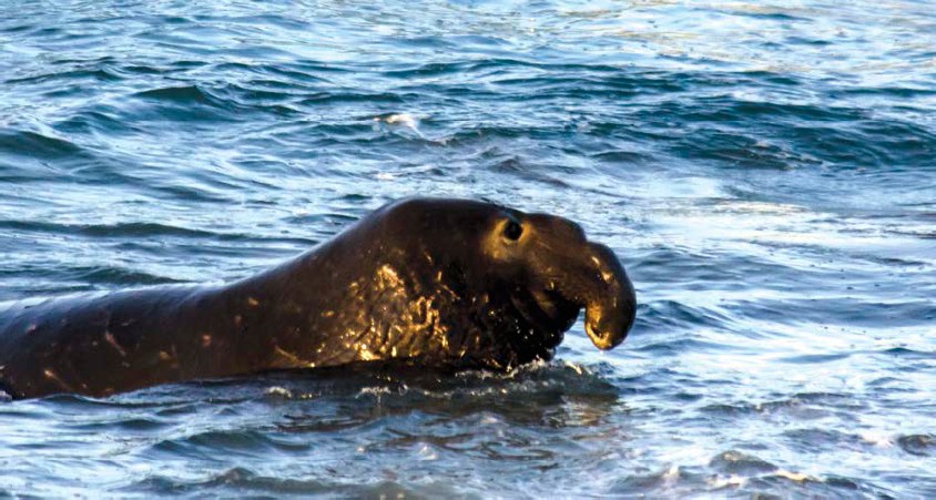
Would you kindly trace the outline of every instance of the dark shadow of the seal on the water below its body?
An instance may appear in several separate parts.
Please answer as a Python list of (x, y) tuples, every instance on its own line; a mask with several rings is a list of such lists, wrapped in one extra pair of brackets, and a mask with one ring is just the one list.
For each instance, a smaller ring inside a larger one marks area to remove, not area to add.
[[(518, 426), (573, 427), (625, 411), (620, 390), (586, 367), (556, 361), (510, 373), (427, 368), (408, 363), (360, 363), (285, 370), (248, 378), (166, 385), (105, 400), (57, 396), (65, 406), (174, 408), (263, 404), (291, 411), (275, 424), (285, 432), (340, 431), (380, 419), (489, 415)], [(567, 412), (576, 407), (576, 415)], [(582, 411), (589, 420), (582, 421)], [(170, 410), (172, 411), (172, 410)]]

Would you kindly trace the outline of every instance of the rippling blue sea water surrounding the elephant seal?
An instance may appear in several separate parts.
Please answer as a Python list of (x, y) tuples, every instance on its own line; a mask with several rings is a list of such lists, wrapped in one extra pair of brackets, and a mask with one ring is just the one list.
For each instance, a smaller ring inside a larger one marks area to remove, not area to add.
[(431, 194), (580, 221), (642, 303), (509, 376), (0, 404), (0, 497), (936, 496), (934, 12), (0, 3), (0, 299), (233, 279)]

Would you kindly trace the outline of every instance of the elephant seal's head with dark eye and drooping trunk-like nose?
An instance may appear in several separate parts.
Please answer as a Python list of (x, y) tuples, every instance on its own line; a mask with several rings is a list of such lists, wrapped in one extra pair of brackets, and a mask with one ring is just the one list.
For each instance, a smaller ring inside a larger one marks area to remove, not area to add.
[(410, 275), (409, 302), (445, 304), (437, 309), (447, 345), (440, 353), (450, 359), (500, 368), (548, 359), (581, 309), (600, 349), (619, 345), (633, 324), (637, 300), (623, 266), (571, 221), (434, 198), (399, 202), (378, 218), (384, 239), (399, 243), (388, 262), (424, 269)]

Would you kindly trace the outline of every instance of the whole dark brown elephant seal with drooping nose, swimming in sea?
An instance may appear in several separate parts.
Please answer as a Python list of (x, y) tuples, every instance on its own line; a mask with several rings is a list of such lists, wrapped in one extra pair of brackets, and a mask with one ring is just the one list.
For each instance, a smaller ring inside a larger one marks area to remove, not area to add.
[(411, 198), (224, 286), (0, 306), (0, 388), (106, 396), (155, 384), (403, 359), (508, 369), (552, 356), (586, 309), (601, 349), (628, 334), (633, 287), (564, 218)]

